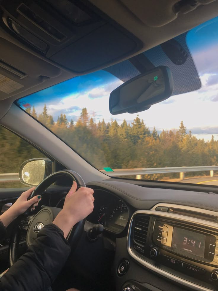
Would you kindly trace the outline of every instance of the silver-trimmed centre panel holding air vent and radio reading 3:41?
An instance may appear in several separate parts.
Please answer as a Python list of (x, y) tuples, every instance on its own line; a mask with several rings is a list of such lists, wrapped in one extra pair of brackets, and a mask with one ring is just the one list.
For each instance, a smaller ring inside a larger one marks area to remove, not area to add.
[(218, 288), (218, 213), (158, 204), (136, 211), (128, 252), (138, 263), (192, 290)]

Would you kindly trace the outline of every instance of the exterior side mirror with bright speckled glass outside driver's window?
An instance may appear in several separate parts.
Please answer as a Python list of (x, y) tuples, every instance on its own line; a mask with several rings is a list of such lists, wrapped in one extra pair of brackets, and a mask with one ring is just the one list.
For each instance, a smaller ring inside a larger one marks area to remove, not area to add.
[(50, 174), (52, 174), (52, 161), (47, 158), (27, 160), (19, 168), (20, 182), (28, 186), (37, 186)]

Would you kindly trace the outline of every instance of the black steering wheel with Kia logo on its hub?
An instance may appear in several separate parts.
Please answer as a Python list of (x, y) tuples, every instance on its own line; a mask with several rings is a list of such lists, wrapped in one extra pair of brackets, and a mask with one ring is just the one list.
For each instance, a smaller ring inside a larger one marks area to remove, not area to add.
[[(54, 172), (51, 175), (47, 176), (39, 185), (33, 190), (30, 197), (31, 199), (36, 195), (46, 195), (47, 193), (43, 193), (50, 185), (52, 185), (57, 179), (68, 177), (70, 179), (75, 180), (77, 183), (77, 190), (80, 187), (86, 187), (84, 180), (81, 178), (79, 174), (70, 170), (61, 170), (58, 172)], [(25, 228), (27, 228), (27, 236), (26, 236), (26, 244), (29, 247), (37, 237), (37, 234), (41, 228), (45, 225), (52, 223), (57, 214), (62, 210), (57, 207), (44, 207), (42, 208), (34, 217), (28, 216), (31, 214), (31, 207), (25, 212), (25, 214), (20, 215), (17, 218), (17, 227), (14, 228), (12, 232), (12, 236), (9, 243), (9, 265), (12, 266), (17, 261), (19, 240), (20, 240), (20, 229), (24, 229), (24, 223), (27, 222), (29, 225), (27, 226), (25, 223)], [(67, 241), (71, 246), (71, 249), (75, 249), (78, 241), (83, 233), (83, 228), (86, 219), (81, 220), (73, 226), (70, 233), (67, 236)]]

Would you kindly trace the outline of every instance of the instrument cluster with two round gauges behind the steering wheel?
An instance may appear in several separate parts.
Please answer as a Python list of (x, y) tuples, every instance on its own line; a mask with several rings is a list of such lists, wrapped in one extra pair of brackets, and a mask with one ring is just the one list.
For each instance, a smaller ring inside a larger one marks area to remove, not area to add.
[(129, 220), (126, 203), (105, 190), (95, 190), (94, 198), (94, 210), (87, 220), (94, 224), (102, 224), (105, 231), (121, 233)]

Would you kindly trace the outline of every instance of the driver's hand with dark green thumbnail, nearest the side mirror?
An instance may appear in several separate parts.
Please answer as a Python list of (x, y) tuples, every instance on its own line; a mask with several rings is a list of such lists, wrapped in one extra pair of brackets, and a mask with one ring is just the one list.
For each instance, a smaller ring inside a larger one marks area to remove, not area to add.
[(16, 200), (16, 202), (10, 207), (10, 211), (13, 212), (15, 216), (23, 214), (31, 206), (31, 210), (33, 210), (39, 204), (39, 201), (41, 200), (41, 195), (34, 196), (30, 200), (27, 200), (35, 188), (36, 187), (33, 187), (23, 192)]

